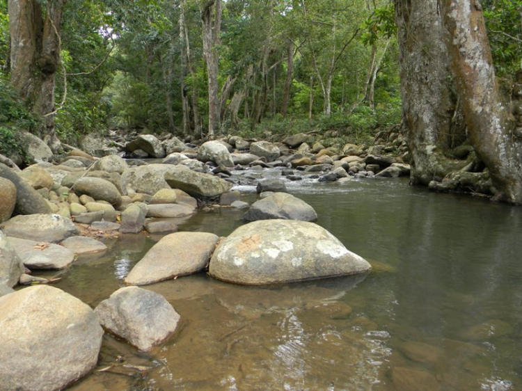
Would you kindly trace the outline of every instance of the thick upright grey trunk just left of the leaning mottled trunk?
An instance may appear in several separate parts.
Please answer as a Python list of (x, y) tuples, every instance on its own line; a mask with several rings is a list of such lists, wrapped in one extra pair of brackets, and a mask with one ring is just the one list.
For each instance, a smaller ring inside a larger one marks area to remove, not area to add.
[(450, 159), (450, 149), (464, 129), (454, 120), (457, 99), (452, 93), (450, 59), (437, 0), (396, 0), (395, 10), (411, 180), (429, 184), (466, 166), (466, 161)]

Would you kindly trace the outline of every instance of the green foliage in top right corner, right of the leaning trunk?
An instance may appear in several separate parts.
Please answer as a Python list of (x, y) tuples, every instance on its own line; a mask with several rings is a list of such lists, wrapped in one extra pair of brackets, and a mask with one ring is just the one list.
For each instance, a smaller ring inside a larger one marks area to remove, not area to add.
[(486, 0), (483, 6), (493, 63), (498, 74), (512, 74), (522, 66), (522, 0)]

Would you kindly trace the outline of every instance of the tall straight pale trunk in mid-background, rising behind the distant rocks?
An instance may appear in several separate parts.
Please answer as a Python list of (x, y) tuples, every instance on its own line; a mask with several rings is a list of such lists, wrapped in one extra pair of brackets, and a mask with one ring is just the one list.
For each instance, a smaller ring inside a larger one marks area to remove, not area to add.
[(221, 0), (207, 1), (201, 11), (203, 22), (203, 56), (207, 64), (209, 129), (208, 135), (214, 136), (219, 131), (219, 31), (221, 29)]

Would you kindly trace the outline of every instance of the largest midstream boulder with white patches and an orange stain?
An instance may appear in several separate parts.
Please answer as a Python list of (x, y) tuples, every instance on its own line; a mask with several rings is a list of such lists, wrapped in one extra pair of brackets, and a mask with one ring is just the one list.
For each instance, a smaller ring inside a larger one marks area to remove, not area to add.
[(220, 242), (210, 276), (244, 285), (313, 280), (370, 271), (324, 228), (294, 220), (254, 221)]

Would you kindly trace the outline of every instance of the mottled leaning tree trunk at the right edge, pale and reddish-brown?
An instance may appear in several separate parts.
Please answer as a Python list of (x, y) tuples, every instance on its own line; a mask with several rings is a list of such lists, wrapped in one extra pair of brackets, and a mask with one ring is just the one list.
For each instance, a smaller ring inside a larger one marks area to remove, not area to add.
[(482, 6), (477, 0), (443, 0), (441, 5), (470, 141), (489, 168), (496, 199), (522, 204), (522, 141), (500, 96)]

